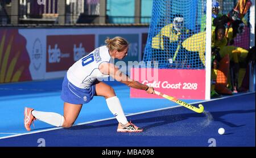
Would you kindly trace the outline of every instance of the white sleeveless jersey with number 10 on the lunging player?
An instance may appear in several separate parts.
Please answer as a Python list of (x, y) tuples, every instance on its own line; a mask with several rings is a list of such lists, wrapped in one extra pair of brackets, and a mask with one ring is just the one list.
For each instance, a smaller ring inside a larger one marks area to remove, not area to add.
[(110, 62), (109, 49), (101, 46), (75, 62), (67, 71), (69, 82), (76, 87), (88, 89), (97, 78), (107, 78), (98, 67), (103, 62)]

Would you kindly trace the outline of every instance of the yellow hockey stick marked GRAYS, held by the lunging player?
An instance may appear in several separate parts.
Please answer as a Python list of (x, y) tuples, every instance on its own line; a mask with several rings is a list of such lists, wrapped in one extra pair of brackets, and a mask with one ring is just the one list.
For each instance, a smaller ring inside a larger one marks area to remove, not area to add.
[(204, 106), (202, 104), (199, 104), (199, 108), (196, 108), (195, 106), (192, 106), (192, 105), (190, 105), (188, 103), (185, 103), (184, 101), (178, 100), (175, 97), (165, 95), (165, 94), (163, 94), (161, 92), (158, 92), (158, 91), (155, 91), (155, 93), (156, 93), (156, 95), (162, 96), (165, 99), (174, 101), (175, 103), (177, 103), (179, 105), (185, 106), (185, 108), (191, 109), (194, 112), (197, 112), (197, 113), (203, 113), (204, 112)]

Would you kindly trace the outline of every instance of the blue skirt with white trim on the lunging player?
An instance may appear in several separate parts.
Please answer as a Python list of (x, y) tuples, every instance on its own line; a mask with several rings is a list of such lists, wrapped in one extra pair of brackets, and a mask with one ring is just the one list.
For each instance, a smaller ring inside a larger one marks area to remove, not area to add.
[(86, 104), (89, 103), (96, 91), (96, 82), (89, 89), (78, 88), (69, 82), (65, 75), (62, 83), (61, 99), (71, 104)]

